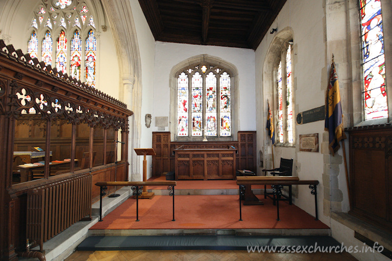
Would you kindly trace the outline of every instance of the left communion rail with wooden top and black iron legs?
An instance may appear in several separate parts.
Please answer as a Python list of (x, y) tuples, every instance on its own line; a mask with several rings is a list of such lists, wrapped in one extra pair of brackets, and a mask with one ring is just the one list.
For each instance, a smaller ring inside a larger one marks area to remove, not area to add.
[(105, 190), (108, 186), (131, 186), (133, 195), (136, 196), (136, 221), (139, 221), (139, 196), (142, 195), (143, 186), (168, 186), (169, 195), (173, 197), (173, 219), (174, 219), (174, 187), (175, 181), (108, 181), (97, 182), (95, 185), (100, 187), (99, 193), (99, 221), (102, 221), (102, 197), (106, 195)]

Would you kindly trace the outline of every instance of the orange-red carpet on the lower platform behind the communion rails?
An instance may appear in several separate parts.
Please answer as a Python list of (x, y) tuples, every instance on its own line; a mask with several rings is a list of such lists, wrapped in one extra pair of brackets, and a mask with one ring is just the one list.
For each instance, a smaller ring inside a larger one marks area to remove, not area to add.
[[(196, 181), (193, 181), (196, 182)], [(203, 182), (203, 181), (200, 181)], [(220, 183), (222, 181), (219, 181)], [(181, 184), (177, 182), (177, 187)], [(287, 202), (280, 202), (281, 221), (276, 221), (276, 207), (264, 199), (262, 206), (242, 206), (238, 195), (177, 195), (175, 220), (172, 221), (172, 197), (155, 196), (139, 200), (136, 222), (136, 199), (128, 199), (91, 229), (327, 229), (313, 216)]]

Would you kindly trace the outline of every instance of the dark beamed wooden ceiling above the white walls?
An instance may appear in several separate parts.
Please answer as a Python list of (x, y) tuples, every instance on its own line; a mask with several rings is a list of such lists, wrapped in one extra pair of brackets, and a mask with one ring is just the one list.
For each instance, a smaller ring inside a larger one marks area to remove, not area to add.
[(139, 0), (156, 41), (256, 49), (286, 0)]

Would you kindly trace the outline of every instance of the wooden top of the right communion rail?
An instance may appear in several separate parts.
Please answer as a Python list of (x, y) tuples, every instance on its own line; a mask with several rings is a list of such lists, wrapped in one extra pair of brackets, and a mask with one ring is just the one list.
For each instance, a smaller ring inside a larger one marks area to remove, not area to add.
[(237, 185), (317, 185), (318, 180), (299, 180), (292, 176), (246, 176), (237, 177)]

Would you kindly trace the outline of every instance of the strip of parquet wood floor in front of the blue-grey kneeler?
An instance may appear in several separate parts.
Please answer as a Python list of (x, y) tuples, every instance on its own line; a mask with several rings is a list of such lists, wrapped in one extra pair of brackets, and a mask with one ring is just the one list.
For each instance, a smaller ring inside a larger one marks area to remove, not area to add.
[(66, 261), (355, 261), (347, 253), (247, 253), (241, 250), (75, 251)]

